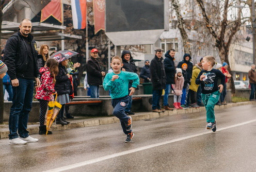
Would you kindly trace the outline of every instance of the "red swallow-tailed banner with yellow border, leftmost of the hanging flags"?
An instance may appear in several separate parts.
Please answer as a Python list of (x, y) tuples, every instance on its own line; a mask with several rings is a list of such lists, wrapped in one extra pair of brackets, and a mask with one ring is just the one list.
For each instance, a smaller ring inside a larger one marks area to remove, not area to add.
[(62, 23), (62, 0), (52, 0), (41, 10), (41, 22), (48, 19), (51, 15)]

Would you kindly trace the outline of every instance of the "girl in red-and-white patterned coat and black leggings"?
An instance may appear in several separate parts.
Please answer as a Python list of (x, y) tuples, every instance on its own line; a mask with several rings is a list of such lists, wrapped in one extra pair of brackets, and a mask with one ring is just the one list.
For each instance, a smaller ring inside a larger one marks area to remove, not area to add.
[[(55, 76), (58, 75), (58, 62), (55, 59), (47, 59), (45, 67), (42, 67), (39, 72), (41, 73), (41, 85), (37, 89), (36, 97), (40, 102), (40, 115), (39, 115), (39, 134), (46, 134), (46, 126), (44, 125), (45, 114), (49, 101), (53, 101), (53, 93), (55, 93)], [(48, 134), (52, 134), (48, 131)]]

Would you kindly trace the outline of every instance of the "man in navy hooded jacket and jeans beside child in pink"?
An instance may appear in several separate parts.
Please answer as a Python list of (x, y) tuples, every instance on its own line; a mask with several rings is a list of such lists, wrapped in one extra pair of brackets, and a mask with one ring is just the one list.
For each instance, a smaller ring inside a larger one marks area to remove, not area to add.
[(174, 76), (175, 76), (175, 66), (174, 66), (174, 56), (175, 50), (170, 49), (165, 53), (165, 73), (166, 73), (166, 88), (165, 88), (165, 95), (164, 95), (164, 109), (165, 110), (173, 110), (169, 107), (168, 104), (168, 97), (170, 93), (171, 84), (175, 84)]

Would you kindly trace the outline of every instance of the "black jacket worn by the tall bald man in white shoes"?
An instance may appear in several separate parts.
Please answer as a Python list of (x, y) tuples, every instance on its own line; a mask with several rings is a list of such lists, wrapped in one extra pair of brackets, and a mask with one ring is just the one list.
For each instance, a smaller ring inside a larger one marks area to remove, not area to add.
[[(33, 36), (29, 33), (28, 40), (31, 42), (31, 54), (34, 58), (34, 76), (38, 77), (38, 64), (37, 64), (37, 44), (33, 39)], [(28, 66), (28, 53), (27, 47), (24, 42), (23, 36), (18, 29), (17, 33), (14, 33), (6, 42), (5, 54), (4, 54), (4, 63), (8, 67), (8, 75), (11, 80), (19, 78), (24, 78), (24, 74)]]

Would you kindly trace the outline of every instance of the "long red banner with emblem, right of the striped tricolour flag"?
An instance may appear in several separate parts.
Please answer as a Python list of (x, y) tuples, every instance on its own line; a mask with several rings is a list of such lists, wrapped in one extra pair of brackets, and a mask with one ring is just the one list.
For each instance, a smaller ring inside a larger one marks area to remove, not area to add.
[(93, 0), (94, 33), (105, 30), (105, 0)]

